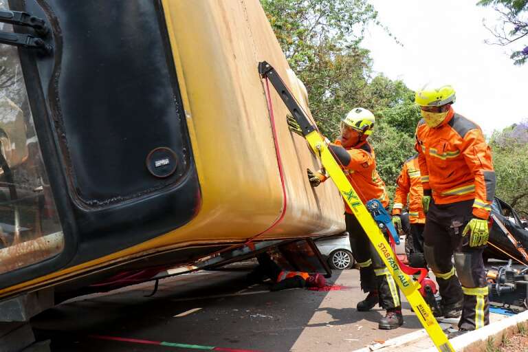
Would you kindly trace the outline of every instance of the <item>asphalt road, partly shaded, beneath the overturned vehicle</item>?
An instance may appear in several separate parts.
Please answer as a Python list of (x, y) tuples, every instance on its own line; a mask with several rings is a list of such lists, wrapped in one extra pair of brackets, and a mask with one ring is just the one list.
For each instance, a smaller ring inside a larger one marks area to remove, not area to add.
[[(355, 310), (358, 270), (336, 271), (336, 290), (269, 292), (248, 285), (248, 265), (197, 272), (69, 300), (36, 316), (52, 351), (353, 351), (421, 329), (404, 302), (403, 327), (377, 329), (383, 311)], [(189, 345), (189, 346), (186, 346)]]

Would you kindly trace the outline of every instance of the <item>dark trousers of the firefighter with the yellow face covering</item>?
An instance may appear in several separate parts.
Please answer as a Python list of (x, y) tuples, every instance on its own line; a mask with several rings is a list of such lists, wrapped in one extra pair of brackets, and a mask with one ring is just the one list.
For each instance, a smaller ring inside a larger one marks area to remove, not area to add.
[[(459, 327), (474, 330), (489, 324), (489, 300), (482, 260), (485, 246), (470, 247), (462, 236), (472, 219), (473, 200), (450, 204), (431, 203), (423, 232), (427, 263), (437, 277), (442, 304), (463, 300)], [(454, 256), (456, 273), (452, 265)]]

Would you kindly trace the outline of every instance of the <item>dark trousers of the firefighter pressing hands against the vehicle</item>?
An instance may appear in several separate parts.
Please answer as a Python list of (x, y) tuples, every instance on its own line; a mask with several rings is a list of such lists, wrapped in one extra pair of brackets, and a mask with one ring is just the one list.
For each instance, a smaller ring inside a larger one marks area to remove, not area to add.
[(353, 214), (344, 214), (344, 221), (350, 234), (352, 254), (360, 266), (361, 289), (363, 292), (377, 290), (383, 309), (399, 309), (401, 307), (399, 289), (374, 249), (369, 236)]

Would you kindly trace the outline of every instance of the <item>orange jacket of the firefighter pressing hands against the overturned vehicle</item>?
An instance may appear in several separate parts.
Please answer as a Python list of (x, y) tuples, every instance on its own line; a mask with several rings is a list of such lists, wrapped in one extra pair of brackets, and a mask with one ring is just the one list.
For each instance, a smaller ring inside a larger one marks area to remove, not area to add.
[[(364, 204), (371, 199), (380, 199), (383, 206), (388, 206), (388, 194), (385, 183), (376, 170), (376, 156), (369, 142), (361, 142), (352, 148), (345, 149), (341, 141), (329, 145), (331, 151), (342, 164), (343, 171), (351, 182), (355, 191), (358, 192)], [(323, 176), (322, 181), (326, 177)], [(348, 204), (344, 203), (345, 211), (352, 214)]]

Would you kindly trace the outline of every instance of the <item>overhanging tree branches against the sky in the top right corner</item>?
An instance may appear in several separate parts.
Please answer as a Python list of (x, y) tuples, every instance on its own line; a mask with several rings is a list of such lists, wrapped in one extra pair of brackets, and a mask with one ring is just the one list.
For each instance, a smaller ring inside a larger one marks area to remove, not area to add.
[[(528, 61), (528, 0), (480, 0), (477, 5), (492, 6), (500, 14), (500, 25), (488, 28), (495, 36), (492, 44), (509, 45), (515, 43), (517, 49), (510, 58), (515, 65)], [(521, 41), (522, 39), (522, 41)], [(489, 42), (487, 42), (489, 43)]]

